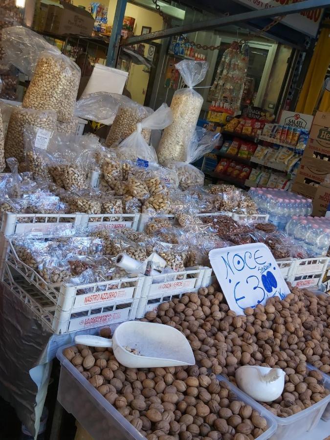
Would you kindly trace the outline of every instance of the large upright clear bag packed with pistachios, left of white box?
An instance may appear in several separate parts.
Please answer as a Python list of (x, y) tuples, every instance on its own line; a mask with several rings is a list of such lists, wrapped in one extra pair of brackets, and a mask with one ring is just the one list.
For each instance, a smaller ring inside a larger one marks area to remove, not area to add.
[(57, 111), (59, 121), (71, 122), (77, 99), (81, 71), (63, 54), (44, 51), (26, 90), (22, 106)]

